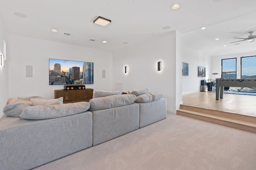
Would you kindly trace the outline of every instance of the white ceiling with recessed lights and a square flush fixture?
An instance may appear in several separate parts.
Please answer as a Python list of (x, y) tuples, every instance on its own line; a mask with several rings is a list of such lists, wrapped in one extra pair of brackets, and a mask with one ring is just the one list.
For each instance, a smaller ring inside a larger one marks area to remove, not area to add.
[[(256, 41), (230, 44), (256, 35), (256, 0), (0, 0), (0, 7), (9, 33), (83, 47), (114, 51), (176, 30), (186, 46), (212, 56), (256, 51)], [(112, 23), (96, 25), (98, 16)]]

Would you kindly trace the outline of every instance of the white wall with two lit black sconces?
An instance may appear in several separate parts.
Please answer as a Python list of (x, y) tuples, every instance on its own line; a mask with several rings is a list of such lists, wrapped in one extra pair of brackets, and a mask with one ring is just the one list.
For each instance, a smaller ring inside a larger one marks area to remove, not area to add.
[[(163, 69), (157, 71), (157, 62)], [(124, 67), (128, 66), (128, 73)], [(146, 87), (161, 92), (168, 112), (176, 112), (176, 32), (154, 37), (113, 53), (113, 84), (122, 83), (123, 92)], [(181, 95), (181, 94), (180, 94)]]

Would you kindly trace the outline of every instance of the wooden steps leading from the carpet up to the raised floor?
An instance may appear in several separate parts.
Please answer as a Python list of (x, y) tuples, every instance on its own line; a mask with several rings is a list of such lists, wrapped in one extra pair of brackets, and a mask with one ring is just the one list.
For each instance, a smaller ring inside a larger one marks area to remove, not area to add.
[(256, 117), (227, 111), (180, 105), (178, 115), (256, 133)]

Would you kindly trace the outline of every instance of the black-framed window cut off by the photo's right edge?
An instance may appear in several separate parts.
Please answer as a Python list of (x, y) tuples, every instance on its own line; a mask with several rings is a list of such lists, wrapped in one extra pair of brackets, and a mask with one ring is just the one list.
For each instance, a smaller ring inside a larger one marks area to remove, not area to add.
[(241, 57), (241, 78), (256, 78), (256, 56)]

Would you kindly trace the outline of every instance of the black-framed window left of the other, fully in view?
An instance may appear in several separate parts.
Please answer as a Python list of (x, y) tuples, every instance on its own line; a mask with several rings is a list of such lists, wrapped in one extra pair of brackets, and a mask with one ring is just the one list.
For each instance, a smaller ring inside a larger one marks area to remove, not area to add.
[(222, 59), (221, 61), (221, 78), (236, 78), (236, 58)]

